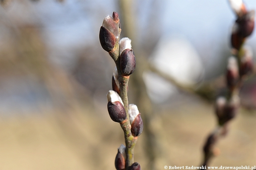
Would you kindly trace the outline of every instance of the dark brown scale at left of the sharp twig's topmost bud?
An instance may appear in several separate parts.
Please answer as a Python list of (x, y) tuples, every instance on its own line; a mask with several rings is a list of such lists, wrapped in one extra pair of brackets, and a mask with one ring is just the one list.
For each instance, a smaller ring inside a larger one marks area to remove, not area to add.
[(100, 28), (100, 43), (102, 48), (107, 52), (112, 51), (116, 44), (116, 38), (114, 34), (102, 26)]

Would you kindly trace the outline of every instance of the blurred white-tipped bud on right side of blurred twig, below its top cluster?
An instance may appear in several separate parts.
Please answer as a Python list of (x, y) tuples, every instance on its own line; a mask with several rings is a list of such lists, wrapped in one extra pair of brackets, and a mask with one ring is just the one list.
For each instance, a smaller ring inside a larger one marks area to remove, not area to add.
[(241, 58), (239, 73), (240, 76), (247, 75), (252, 73), (253, 70), (253, 60), (252, 60), (252, 51), (250, 48), (244, 49), (244, 56)]

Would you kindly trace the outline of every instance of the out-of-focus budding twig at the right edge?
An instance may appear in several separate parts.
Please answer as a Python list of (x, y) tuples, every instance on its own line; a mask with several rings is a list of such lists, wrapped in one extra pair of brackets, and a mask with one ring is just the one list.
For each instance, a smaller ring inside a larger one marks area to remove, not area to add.
[(247, 36), (251, 35), (254, 29), (254, 10), (247, 11), (242, 0), (229, 0), (232, 10), (236, 14), (236, 21), (231, 34), (231, 46), (233, 56), (228, 58), (226, 70), (226, 84), (228, 92), (220, 96), (215, 102), (215, 114), (218, 119), (217, 128), (208, 136), (203, 147), (203, 165), (207, 167), (209, 160), (219, 154), (215, 147), (219, 138), (228, 132), (229, 121), (232, 120), (239, 109), (239, 91), (243, 81), (252, 73), (253, 60), (252, 50), (244, 46)]

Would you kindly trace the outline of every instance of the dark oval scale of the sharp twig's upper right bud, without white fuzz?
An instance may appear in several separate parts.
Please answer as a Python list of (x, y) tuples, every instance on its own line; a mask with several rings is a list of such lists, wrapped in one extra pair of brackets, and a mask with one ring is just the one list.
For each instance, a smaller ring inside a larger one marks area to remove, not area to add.
[(136, 60), (132, 49), (125, 49), (120, 55), (120, 68), (122, 75), (128, 76), (135, 70)]

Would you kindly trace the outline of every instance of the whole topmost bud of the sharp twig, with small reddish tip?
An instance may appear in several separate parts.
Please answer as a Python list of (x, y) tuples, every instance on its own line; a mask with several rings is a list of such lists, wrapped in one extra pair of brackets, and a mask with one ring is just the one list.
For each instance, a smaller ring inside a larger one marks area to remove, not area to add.
[(117, 12), (113, 12), (113, 17), (106, 16), (100, 28), (100, 43), (104, 50), (110, 52), (114, 49), (116, 40), (119, 38), (119, 17)]

